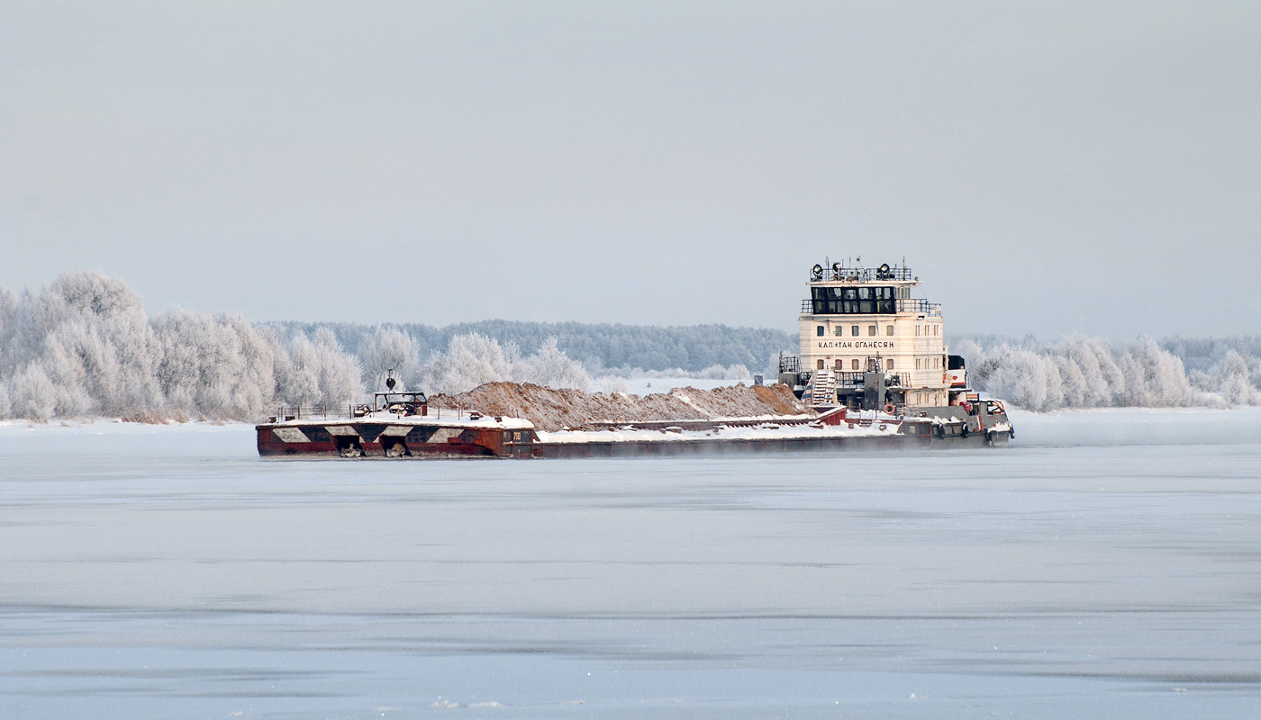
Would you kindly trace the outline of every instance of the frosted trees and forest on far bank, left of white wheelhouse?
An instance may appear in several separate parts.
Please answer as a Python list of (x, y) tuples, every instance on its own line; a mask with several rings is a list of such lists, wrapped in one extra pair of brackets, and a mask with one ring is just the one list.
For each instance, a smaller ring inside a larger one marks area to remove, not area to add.
[(125, 281), (76, 272), (38, 293), (0, 287), (0, 419), (255, 420), (277, 406), (358, 404), (386, 390), (391, 375), (398, 390), (446, 393), (494, 381), (589, 390), (591, 371), (644, 367), (632, 362), (745, 377), (741, 364), (719, 361), (754, 358), (778, 335), (504, 320), (255, 324), (180, 309), (150, 318)]

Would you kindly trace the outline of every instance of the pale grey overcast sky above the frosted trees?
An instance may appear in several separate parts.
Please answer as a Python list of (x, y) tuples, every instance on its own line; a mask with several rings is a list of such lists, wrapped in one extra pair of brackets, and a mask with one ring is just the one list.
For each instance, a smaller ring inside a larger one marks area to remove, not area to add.
[(1261, 4), (0, 4), (0, 285), (150, 313), (1261, 333)]

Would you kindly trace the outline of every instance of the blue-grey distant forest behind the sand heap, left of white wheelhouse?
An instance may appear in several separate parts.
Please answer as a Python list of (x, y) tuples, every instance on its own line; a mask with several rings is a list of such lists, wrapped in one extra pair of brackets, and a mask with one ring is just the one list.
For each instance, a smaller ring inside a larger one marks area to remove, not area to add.
[[(328, 329), (351, 354), (372, 337), (378, 325), (354, 323), (264, 323), (281, 339), (314, 337)], [(456, 335), (479, 334), (501, 344), (514, 343), (523, 353), (535, 353), (549, 338), (556, 348), (583, 363), (591, 375), (629, 373), (633, 369), (680, 368), (701, 372), (714, 366), (745, 366), (763, 372), (769, 358), (781, 351), (796, 353), (797, 337), (768, 328), (728, 325), (622, 325), (589, 323), (525, 323), (482, 320), (436, 328), (416, 323), (385, 324), (412, 337), (421, 357), (444, 352)]]

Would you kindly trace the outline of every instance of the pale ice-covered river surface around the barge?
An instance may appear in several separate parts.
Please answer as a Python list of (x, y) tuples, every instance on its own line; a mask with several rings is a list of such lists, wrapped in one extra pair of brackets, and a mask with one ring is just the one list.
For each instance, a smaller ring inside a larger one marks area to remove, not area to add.
[(1258, 716), (1261, 412), (1015, 422), (536, 462), (0, 427), (0, 716)]

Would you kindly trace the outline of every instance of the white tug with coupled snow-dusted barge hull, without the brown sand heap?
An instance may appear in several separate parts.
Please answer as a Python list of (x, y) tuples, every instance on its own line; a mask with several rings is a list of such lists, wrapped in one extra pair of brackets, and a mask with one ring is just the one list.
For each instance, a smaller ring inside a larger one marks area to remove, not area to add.
[(779, 383), (807, 405), (798, 415), (590, 419), (545, 431), (523, 417), (430, 407), (422, 392), (392, 392), (391, 377), (391, 392), (342, 416), (281, 409), (256, 426), (259, 454), (576, 458), (1006, 443), (1006, 409), (967, 386), (963, 358), (944, 344), (941, 305), (912, 298), (918, 285), (905, 266), (811, 269), (799, 352), (779, 358)]

